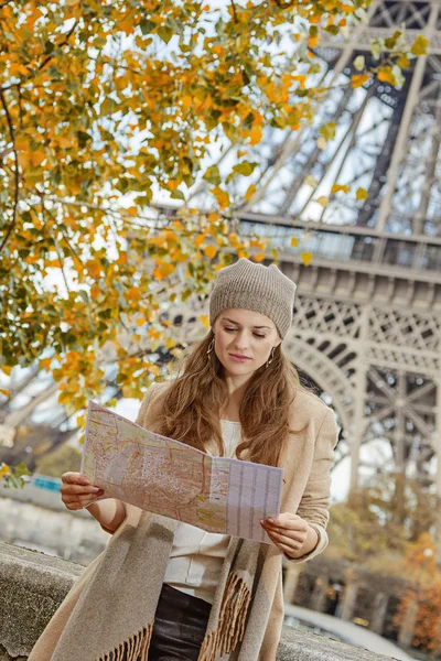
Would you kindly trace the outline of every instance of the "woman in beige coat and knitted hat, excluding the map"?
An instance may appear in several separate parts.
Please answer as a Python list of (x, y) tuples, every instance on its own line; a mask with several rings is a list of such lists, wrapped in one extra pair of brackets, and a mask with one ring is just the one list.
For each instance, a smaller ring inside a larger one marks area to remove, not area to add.
[(206, 533), (63, 475), (62, 499), (112, 537), (36, 642), (30, 661), (275, 661), (283, 619), (282, 556), (327, 544), (333, 411), (284, 357), (295, 284), (247, 259), (222, 269), (211, 330), (172, 381), (155, 383), (137, 422), (212, 454), (284, 469), (273, 542)]

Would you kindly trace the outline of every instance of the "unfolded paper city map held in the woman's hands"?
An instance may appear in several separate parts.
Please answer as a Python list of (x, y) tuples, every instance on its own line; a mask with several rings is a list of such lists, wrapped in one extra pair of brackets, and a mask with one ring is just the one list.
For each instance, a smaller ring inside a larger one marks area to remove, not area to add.
[(215, 457), (89, 402), (80, 472), (149, 512), (272, 544), (259, 521), (280, 513), (283, 469)]

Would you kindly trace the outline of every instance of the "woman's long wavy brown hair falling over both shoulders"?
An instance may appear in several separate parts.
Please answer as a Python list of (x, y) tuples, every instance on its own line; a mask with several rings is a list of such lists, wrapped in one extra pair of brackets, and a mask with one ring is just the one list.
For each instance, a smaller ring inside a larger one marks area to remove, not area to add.
[[(224, 367), (214, 349), (207, 350), (214, 333), (187, 347), (173, 366), (175, 378), (165, 391), (163, 408), (154, 432), (175, 438), (205, 452), (205, 442), (213, 438), (218, 456), (225, 456), (219, 412), (228, 402), (228, 387), (223, 379)], [(281, 343), (268, 367), (263, 364), (251, 376), (239, 409), (241, 441), (237, 458), (256, 464), (277, 466), (290, 433), (290, 408), (299, 390), (310, 391), (300, 382), (299, 373), (284, 356)]]

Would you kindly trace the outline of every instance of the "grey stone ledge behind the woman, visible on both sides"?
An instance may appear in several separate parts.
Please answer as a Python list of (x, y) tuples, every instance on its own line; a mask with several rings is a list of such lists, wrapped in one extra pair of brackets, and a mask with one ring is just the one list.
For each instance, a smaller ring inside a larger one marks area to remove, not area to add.
[[(84, 566), (0, 542), (0, 661), (25, 661)], [(387, 661), (383, 657), (283, 627), (277, 661)], [(390, 661), (390, 659), (389, 659)]]

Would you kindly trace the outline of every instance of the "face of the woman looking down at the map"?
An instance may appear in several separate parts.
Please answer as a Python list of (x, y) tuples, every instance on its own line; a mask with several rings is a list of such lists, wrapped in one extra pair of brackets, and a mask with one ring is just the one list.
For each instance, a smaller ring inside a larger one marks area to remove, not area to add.
[[(272, 319), (251, 310), (224, 310), (214, 324), (213, 333), (214, 349), (226, 376), (250, 376), (267, 362), (272, 347), (281, 343)], [(248, 359), (237, 360), (234, 355)]]

